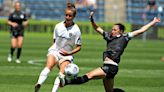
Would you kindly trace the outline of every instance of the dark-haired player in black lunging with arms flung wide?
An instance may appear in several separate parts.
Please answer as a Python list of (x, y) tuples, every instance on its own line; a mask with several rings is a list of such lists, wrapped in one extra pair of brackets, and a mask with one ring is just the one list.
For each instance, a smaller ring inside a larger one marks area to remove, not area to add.
[[(105, 92), (114, 92), (114, 77), (118, 72), (118, 64), (120, 57), (124, 52), (128, 42), (135, 36), (147, 31), (148, 28), (154, 24), (160, 22), (159, 18), (154, 18), (151, 22), (144, 25), (142, 28), (124, 33), (125, 27), (123, 24), (114, 24), (111, 32), (104, 31), (101, 27), (97, 26), (93, 20), (93, 12), (90, 13), (90, 20), (93, 28), (96, 32), (103, 36), (107, 42), (107, 49), (103, 52), (103, 65), (97, 69), (94, 69), (81, 77), (75, 79), (68, 79), (66, 77), (60, 77), (61, 86), (69, 84), (82, 84), (91, 79), (100, 78), (103, 79)], [(156, 31), (156, 30), (154, 30)]]

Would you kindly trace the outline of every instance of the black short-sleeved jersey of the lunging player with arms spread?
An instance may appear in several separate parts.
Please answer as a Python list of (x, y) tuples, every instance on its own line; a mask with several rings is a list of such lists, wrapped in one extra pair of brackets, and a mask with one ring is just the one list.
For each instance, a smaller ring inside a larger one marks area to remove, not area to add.
[(111, 37), (109, 32), (103, 32), (103, 37), (107, 42), (107, 49), (103, 53), (103, 60), (105, 57), (112, 59), (114, 62), (120, 62), (120, 56), (124, 52), (129, 40), (128, 34), (122, 34), (120, 36)]

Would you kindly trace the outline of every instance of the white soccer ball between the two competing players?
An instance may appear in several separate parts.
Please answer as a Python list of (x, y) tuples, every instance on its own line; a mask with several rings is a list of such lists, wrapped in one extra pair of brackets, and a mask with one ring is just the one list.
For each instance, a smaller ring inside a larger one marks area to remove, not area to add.
[(68, 64), (64, 69), (64, 73), (67, 77), (75, 78), (79, 73), (79, 67), (74, 63)]

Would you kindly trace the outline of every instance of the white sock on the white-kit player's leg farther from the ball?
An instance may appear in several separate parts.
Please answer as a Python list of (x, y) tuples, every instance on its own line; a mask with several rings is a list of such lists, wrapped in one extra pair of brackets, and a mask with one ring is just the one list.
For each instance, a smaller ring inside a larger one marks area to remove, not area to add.
[(50, 69), (45, 67), (40, 73), (38, 84), (42, 85), (43, 82), (47, 79), (48, 74), (50, 73)]

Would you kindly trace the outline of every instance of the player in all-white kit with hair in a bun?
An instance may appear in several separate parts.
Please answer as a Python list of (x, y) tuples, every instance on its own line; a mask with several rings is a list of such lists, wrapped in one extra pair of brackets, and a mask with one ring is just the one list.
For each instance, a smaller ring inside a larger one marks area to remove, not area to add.
[[(47, 79), (49, 72), (55, 65), (59, 66), (59, 75), (65, 76), (64, 68), (73, 62), (73, 54), (81, 49), (81, 32), (77, 24), (73, 22), (76, 16), (76, 8), (74, 4), (67, 3), (65, 9), (65, 21), (58, 23), (55, 26), (53, 39), (54, 44), (48, 49), (47, 63), (45, 68), (41, 71), (37, 84), (35, 85), (35, 92), (39, 89), (43, 82)], [(52, 92), (58, 90), (60, 80), (57, 77)]]

